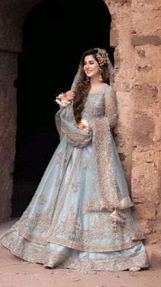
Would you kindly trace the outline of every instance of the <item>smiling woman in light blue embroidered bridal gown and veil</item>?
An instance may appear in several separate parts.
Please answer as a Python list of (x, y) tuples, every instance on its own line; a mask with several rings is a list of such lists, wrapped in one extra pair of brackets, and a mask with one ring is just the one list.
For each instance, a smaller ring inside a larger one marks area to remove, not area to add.
[(83, 54), (72, 90), (56, 101), (61, 141), (23, 216), (2, 244), (29, 262), (97, 271), (148, 266), (111, 134), (113, 66), (104, 49)]

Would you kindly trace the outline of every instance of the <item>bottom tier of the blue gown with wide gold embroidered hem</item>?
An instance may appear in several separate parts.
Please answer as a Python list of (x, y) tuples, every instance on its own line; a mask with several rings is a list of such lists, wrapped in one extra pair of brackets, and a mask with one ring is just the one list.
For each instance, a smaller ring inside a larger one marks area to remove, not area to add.
[(80, 271), (124, 271), (132, 266), (148, 268), (143, 243), (122, 251), (88, 253), (48, 243), (39, 245), (20, 236), (16, 231), (1, 235), (1, 243), (12, 254), (25, 261), (50, 268), (69, 268)]

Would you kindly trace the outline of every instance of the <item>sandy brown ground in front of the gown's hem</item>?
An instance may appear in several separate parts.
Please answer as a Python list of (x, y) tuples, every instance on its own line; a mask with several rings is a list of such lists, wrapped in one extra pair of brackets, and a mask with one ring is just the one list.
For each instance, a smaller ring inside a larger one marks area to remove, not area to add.
[[(0, 233), (16, 220), (0, 225)], [(83, 273), (46, 269), (20, 260), (0, 245), (0, 287), (161, 287), (161, 270)]]

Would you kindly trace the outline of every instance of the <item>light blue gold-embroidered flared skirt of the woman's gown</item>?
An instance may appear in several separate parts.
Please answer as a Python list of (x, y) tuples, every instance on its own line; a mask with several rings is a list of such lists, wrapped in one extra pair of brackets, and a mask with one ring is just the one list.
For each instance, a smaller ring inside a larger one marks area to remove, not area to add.
[[(117, 181), (126, 186), (113, 148)], [(126, 220), (117, 223), (117, 229), (111, 224), (111, 212), (85, 212), (87, 201), (99, 197), (96, 177), (92, 142), (72, 147), (64, 137), (31, 203), (1, 234), (1, 243), (19, 258), (44, 266), (92, 271), (146, 268), (147, 253), (141, 239), (134, 238), (140, 231), (131, 208), (123, 210)]]

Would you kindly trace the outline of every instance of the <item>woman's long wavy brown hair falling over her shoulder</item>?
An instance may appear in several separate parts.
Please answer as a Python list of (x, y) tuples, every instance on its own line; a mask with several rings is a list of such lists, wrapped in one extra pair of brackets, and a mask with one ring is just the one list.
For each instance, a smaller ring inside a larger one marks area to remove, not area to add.
[[(76, 82), (75, 92), (76, 95), (74, 97), (73, 101), (73, 111), (74, 111), (74, 118), (76, 123), (79, 123), (82, 119), (82, 112), (85, 107), (85, 101), (87, 101), (87, 95), (89, 93), (89, 90), (91, 88), (90, 81), (87, 81), (87, 75), (83, 69), (85, 57), (87, 55), (92, 55), (93, 58), (98, 62), (98, 59), (96, 58), (96, 54), (98, 53), (97, 48), (89, 49), (83, 53), (83, 56), (81, 58), (80, 63), (80, 75), (78, 77), (78, 81)], [(99, 64), (99, 62), (98, 62)], [(100, 65), (99, 65), (100, 66)], [(108, 82), (108, 64), (105, 63), (103, 66), (100, 66), (100, 69), (102, 71), (102, 82), (109, 84)]]

